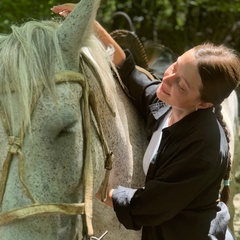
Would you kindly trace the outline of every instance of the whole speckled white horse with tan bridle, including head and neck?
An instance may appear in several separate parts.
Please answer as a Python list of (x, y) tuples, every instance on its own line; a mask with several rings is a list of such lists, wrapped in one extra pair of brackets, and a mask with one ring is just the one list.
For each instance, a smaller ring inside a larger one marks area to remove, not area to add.
[(92, 221), (96, 236), (140, 238), (94, 196), (108, 151), (111, 186), (142, 185), (146, 148), (143, 122), (92, 33), (98, 6), (82, 0), (61, 25), (30, 21), (0, 37), (1, 240), (80, 239), (93, 235)]

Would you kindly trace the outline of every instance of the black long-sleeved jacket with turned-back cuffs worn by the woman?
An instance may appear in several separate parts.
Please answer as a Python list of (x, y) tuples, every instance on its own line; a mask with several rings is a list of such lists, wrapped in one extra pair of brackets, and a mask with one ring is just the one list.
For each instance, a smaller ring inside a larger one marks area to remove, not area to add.
[[(156, 99), (160, 82), (138, 72), (131, 54), (126, 54), (119, 73), (151, 136), (170, 107)], [(142, 228), (143, 240), (225, 239), (229, 214), (217, 200), (227, 156), (227, 140), (212, 108), (163, 129), (145, 187), (120, 186), (113, 192), (119, 221), (128, 229)], [(223, 217), (220, 230), (211, 227), (217, 213)], [(210, 237), (214, 231), (217, 238)]]

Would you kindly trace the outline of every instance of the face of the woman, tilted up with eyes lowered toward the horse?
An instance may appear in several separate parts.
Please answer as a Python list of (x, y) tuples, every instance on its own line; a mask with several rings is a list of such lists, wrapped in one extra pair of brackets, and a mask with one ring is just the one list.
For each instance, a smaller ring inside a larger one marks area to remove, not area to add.
[(194, 50), (180, 56), (164, 73), (157, 97), (181, 110), (195, 111), (201, 103), (202, 80), (198, 73)]

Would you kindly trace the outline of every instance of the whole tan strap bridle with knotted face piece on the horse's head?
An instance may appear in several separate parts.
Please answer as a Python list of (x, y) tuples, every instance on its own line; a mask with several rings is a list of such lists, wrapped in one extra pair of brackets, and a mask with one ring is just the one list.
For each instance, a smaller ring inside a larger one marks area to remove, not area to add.
[[(11, 161), (13, 158), (14, 154), (17, 154), (19, 156), (19, 179), (22, 183), (23, 186), (23, 191), (26, 194), (26, 196), (31, 199), (32, 201), (32, 205), (29, 206), (24, 206), (21, 208), (16, 208), (13, 209), (11, 211), (7, 211), (7, 212), (2, 212), (0, 213), (0, 226), (1, 225), (6, 225), (9, 224), (13, 221), (17, 221), (17, 220), (21, 220), (33, 215), (41, 215), (41, 214), (45, 214), (45, 213), (60, 213), (60, 214), (66, 214), (66, 215), (84, 215), (85, 216), (85, 220), (86, 220), (86, 226), (87, 226), (87, 235), (88, 237), (91, 238), (91, 236), (93, 236), (93, 227), (92, 227), (92, 199), (93, 199), (93, 166), (92, 166), (92, 158), (91, 158), (91, 139), (90, 139), (90, 106), (93, 110), (94, 116), (96, 118), (96, 122), (98, 124), (98, 128), (99, 128), (99, 136), (102, 142), (102, 146), (104, 149), (104, 152), (106, 154), (106, 156), (113, 156), (112, 153), (108, 150), (107, 144), (106, 144), (106, 140), (104, 138), (103, 135), (103, 131), (99, 122), (99, 117), (97, 115), (97, 111), (95, 108), (95, 104), (93, 103), (93, 101), (91, 100), (89, 103), (89, 99), (90, 99), (90, 93), (89, 93), (89, 86), (88, 86), (88, 82), (87, 82), (87, 78), (86, 78), (86, 74), (84, 72), (83, 69), (83, 64), (84, 61), (86, 60), (85, 58), (80, 58), (81, 60), (81, 68), (83, 70), (84, 74), (81, 73), (76, 73), (76, 72), (72, 72), (72, 71), (66, 71), (64, 73), (59, 73), (56, 74), (55, 76), (55, 82), (56, 83), (66, 83), (66, 82), (76, 82), (76, 83), (80, 83), (80, 85), (82, 86), (82, 88), (84, 89), (83, 91), (83, 109), (84, 109), (84, 117), (83, 117), (83, 121), (84, 121), (84, 128), (86, 129), (86, 134), (85, 134), (85, 141), (86, 141), (86, 150), (85, 150), (85, 161), (84, 161), (84, 203), (66, 203), (66, 204), (60, 204), (60, 203), (38, 203), (34, 197), (30, 194), (30, 192), (28, 191), (28, 188), (26, 186), (26, 184), (24, 183), (24, 179), (23, 179), (23, 153), (21, 151), (21, 147), (23, 144), (23, 139), (24, 139), (24, 133), (25, 130), (27, 129), (27, 126), (23, 126), (22, 129), (20, 129), (19, 131), (19, 136), (18, 137), (14, 137), (14, 136), (10, 136), (9, 137), (9, 146), (8, 146), (8, 153), (7, 153), (7, 157), (4, 161), (4, 167), (3, 167), (3, 174), (2, 174), (2, 179), (0, 182), (0, 205), (2, 204), (2, 200), (3, 200), (3, 196), (4, 196), (4, 192), (5, 192), (5, 188), (6, 188), (6, 182), (7, 182), (7, 178), (8, 178), (8, 173), (9, 173), (9, 169), (10, 169), (10, 165), (11, 165)], [(95, 77), (98, 80), (101, 80), (101, 77), (97, 74), (97, 70), (95, 69), (95, 67), (93, 66), (93, 64), (91, 63), (91, 61), (87, 62), (87, 65), (90, 66), (90, 69), (93, 70), (95, 72)], [(63, 78), (62, 75), (68, 76), (69, 73), (71, 73), (71, 79), (67, 79)], [(99, 81), (101, 82), (101, 81)], [(103, 91), (104, 88), (102, 88)], [(103, 95), (105, 95), (105, 92), (103, 91)], [(33, 111), (36, 102), (38, 100), (39, 96), (35, 96), (32, 102), (32, 108), (31, 110)], [(108, 100), (105, 101), (108, 103), (108, 107), (111, 109), (110, 104), (108, 102)], [(1, 109), (0, 109), (1, 110)], [(111, 109), (111, 112), (113, 112), (113, 110)], [(8, 134), (9, 136), (9, 128), (6, 124), (6, 114), (1, 111), (1, 116), (2, 116), (2, 120), (3, 120), (3, 125), (5, 128), (5, 132)], [(109, 154), (110, 153), (110, 154)], [(111, 160), (113, 160), (113, 158), (111, 157)], [(106, 158), (106, 161), (109, 162), (109, 158)], [(105, 162), (105, 166), (106, 166), (106, 162)], [(107, 168), (107, 172), (110, 171), (111, 167), (108, 166)], [(106, 172), (106, 176), (109, 175), (109, 173), (107, 174)], [(105, 177), (106, 179), (106, 177)], [(108, 181), (106, 181), (106, 184), (108, 183)]]

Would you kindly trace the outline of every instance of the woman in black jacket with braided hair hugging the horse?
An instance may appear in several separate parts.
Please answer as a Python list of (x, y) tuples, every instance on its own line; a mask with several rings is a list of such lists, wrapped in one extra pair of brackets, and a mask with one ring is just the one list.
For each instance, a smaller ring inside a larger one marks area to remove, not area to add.
[[(52, 10), (64, 15), (73, 6)], [(151, 81), (128, 50), (95, 26), (104, 44), (116, 47), (115, 64), (150, 139), (145, 186), (111, 189), (107, 204), (126, 228), (142, 228), (143, 240), (233, 239), (224, 203), (231, 161), (221, 103), (239, 84), (238, 56), (225, 46), (199, 45), (180, 56), (162, 81)]]

